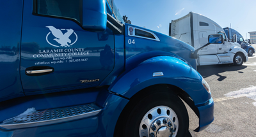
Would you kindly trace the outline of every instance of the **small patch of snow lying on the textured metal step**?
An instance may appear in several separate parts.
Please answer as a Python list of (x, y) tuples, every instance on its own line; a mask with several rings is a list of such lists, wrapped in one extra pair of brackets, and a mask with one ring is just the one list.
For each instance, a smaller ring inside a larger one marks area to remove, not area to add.
[(20, 115), (13, 117), (11, 119), (6, 119), (3, 121), (3, 124), (11, 124), (13, 121), (20, 121), (27, 117), (27, 115), (31, 115), (32, 113), (37, 113), (38, 111), (35, 108), (28, 108), (25, 112), (21, 113)]

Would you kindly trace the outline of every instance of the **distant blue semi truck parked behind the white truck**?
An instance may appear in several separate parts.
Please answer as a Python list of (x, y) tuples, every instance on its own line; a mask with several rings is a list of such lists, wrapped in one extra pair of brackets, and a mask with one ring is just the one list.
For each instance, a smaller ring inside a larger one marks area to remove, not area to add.
[(255, 53), (255, 48), (252, 47), (247, 41), (244, 41), (243, 36), (237, 32), (234, 29), (231, 29), (230, 27), (223, 28), (225, 33), (227, 34), (228, 39), (232, 40), (232, 36), (236, 34), (237, 36), (237, 43), (241, 45), (241, 48), (243, 48), (247, 53), (248, 56), (252, 56)]

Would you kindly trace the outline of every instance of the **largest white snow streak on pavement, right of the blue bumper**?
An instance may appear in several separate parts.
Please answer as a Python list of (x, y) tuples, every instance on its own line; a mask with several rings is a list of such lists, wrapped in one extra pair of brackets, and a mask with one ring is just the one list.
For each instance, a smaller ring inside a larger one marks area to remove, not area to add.
[[(251, 86), (237, 91), (228, 92), (224, 96), (226, 97), (214, 99), (214, 102), (226, 101), (229, 99), (236, 99), (239, 97), (248, 97), (256, 101), (256, 86)], [(256, 106), (256, 102), (253, 102), (253, 105)]]

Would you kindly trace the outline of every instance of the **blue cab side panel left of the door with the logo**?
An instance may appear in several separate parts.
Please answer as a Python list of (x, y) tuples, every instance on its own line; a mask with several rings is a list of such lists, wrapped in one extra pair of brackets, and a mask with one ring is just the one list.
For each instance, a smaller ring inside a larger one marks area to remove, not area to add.
[[(16, 3), (16, 4), (13, 4)], [(12, 7), (12, 8), (6, 8)], [(22, 1), (3, 1), (0, 13), (0, 101), (24, 96), (20, 83), (20, 38), (22, 27)]]

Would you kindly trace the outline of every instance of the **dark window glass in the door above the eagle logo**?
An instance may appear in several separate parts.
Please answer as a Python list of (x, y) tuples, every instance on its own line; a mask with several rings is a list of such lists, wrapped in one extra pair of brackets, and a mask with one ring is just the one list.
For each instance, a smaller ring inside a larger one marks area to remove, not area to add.
[(37, 0), (37, 13), (57, 17), (74, 18), (80, 22), (79, 3), (81, 0)]

